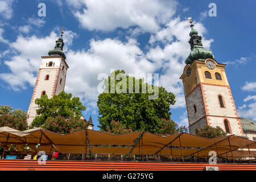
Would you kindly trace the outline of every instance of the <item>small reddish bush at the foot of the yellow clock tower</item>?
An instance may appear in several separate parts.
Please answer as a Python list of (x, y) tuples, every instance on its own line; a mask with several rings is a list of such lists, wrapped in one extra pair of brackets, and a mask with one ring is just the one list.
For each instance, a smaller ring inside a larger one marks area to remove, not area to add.
[(226, 136), (226, 132), (221, 129), (220, 126), (212, 127), (212, 126), (204, 126), (200, 129), (196, 128), (196, 135), (205, 138), (216, 138), (216, 137), (224, 137)]

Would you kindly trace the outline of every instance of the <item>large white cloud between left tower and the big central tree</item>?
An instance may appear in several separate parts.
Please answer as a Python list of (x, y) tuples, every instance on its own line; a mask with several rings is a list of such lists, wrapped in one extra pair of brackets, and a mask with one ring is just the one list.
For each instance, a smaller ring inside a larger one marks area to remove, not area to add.
[(90, 106), (96, 107), (97, 80), (100, 73), (110, 75), (110, 69), (124, 69), (126, 73), (154, 73), (153, 63), (146, 60), (134, 39), (90, 40), (88, 51), (69, 51), (67, 86), (65, 90), (80, 96)]

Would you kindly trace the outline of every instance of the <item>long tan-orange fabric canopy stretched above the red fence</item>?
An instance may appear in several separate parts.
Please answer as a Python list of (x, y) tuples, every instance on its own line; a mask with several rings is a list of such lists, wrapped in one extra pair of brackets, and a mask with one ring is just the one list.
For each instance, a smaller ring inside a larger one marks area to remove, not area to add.
[(41, 128), (18, 131), (0, 127), (0, 142), (3, 147), (15, 144), (20, 152), (26, 143), (33, 151), (39, 151), (36, 145), (40, 143), (42, 151), (77, 154), (166, 155), (173, 158), (209, 156), (210, 151), (226, 158), (255, 157), (256, 154), (256, 142), (235, 135), (208, 139), (187, 133), (160, 137), (144, 131), (113, 135), (89, 129), (61, 135)]

